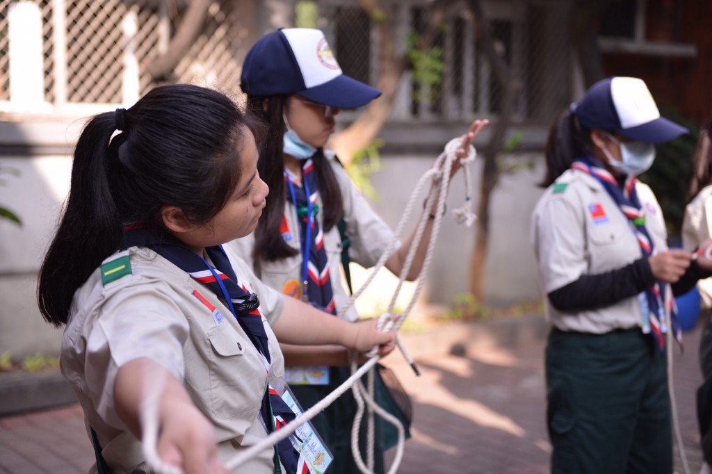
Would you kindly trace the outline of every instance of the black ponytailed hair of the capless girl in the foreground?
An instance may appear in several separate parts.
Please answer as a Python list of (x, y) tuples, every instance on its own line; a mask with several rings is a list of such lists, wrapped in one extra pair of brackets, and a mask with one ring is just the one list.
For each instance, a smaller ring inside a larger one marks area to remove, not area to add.
[(93, 117), (75, 147), (66, 210), (39, 272), (44, 319), (66, 324), (75, 291), (120, 250), (126, 224), (162, 227), (166, 205), (197, 225), (210, 221), (241, 177), (248, 133), (259, 142), (261, 124), (223, 93), (188, 84), (157, 87), (128, 110)]

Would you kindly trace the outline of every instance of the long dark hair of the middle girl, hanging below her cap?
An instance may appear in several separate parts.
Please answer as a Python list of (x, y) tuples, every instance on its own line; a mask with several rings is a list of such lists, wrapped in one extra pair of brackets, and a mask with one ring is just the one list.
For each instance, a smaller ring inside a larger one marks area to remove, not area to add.
[[(284, 186), (284, 152), (283, 138), (286, 124), (283, 115), (289, 104), (288, 95), (273, 95), (271, 97), (248, 96), (247, 113), (266, 122), (269, 127), (269, 137), (266, 145), (260, 150), (257, 169), (260, 177), (269, 186), (267, 205), (262, 211), (262, 217), (255, 229), (255, 260), (276, 261), (297, 255), (298, 251), (290, 247), (282, 238), (279, 226), (284, 215), (286, 191)], [(334, 172), (324, 156), (324, 150), (318, 149), (312, 158), (314, 170), (319, 184), (319, 194), (324, 204), (323, 230), (329, 231), (335, 226), (342, 214), (343, 201), (339, 184)]]

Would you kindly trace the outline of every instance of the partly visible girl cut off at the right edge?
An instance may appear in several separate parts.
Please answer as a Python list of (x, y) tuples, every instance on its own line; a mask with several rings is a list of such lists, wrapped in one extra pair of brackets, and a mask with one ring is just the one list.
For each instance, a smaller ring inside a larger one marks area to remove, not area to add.
[[(682, 246), (693, 251), (712, 237), (712, 120), (700, 131), (695, 150), (689, 199), (682, 223)], [(700, 339), (699, 357), (704, 383), (697, 395), (697, 416), (705, 465), (701, 473), (712, 473), (712, 278), (697, 283), (702, 306), (707, 313)]]

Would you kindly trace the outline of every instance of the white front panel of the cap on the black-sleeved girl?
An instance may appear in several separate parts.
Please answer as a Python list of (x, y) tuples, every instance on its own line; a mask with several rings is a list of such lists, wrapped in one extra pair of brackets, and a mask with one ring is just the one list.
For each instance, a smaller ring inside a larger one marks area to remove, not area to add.
[(611, 96), (623, 129), (637, 127), (660, 117), (645, 83), (637, 78), (613, 78)]

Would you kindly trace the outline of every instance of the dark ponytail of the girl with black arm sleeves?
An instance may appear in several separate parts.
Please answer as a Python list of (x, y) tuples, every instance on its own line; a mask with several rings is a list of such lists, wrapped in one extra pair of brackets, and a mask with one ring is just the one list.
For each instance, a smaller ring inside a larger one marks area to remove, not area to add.
[(549, 128), (544, 157), (546, 174), (539, 184), (550, 186), (560, 175), (571, 167), (575, 159), (590, 154), (592, 148), (591, 131), (581, 127), (576, 115), (570, 109), (558, 113)]

